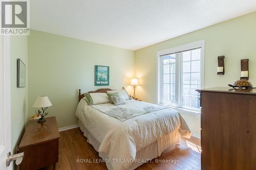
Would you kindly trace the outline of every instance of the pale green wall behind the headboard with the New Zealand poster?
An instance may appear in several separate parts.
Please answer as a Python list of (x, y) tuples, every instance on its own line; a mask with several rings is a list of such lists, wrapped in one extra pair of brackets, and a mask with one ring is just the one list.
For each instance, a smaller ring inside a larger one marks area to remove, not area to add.
[[(48, 95), (48, 116), (56, 116), (58, 127), (77, 124), (78, 89), (121, 89), (134, 76), (134, 51), (82, 41), (35, 30), (29, 45), (29, 115), (39, 95)], [(110, 86), (94, 86), (94, 65), (110, 66)]]

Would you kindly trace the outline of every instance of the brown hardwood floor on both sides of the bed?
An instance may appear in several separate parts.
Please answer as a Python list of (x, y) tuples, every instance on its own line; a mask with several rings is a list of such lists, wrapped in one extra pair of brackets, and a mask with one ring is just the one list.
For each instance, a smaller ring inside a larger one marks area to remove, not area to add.
[[(179, 160), (179, 162), (159, 163), (156, 162), (156, 159), (153, 159), (152, 162), (144, 163), (137, 169), (201, 169), (200, 153), (200, 139), (195, 137), (191, 137), (190, 139), (182, 138), (180, 143), (176, 143), (172, 147), (169, 147), (157, 158), (162, 161)], [(59, 162), (56, 164), (56, 170), (107, 169), (103, 162), (77, 163), (77, 159), (90, 159), (93, 161), (100, 159), (100, 157), (78, 128), (60, 132)], [(45, 169), (53, 169), (53, 166), (49, 166)]]

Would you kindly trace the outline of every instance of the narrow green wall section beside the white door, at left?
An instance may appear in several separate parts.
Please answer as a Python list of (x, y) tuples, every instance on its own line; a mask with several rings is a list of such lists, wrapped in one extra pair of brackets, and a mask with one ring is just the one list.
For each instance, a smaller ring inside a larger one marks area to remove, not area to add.
[[(28, 118), (28, 38), (10, 37), (11, 57), (11, 138), (12, 152), (21, 140)], [(26, 65), (26, 87), (17, 88), (17, 59)]]

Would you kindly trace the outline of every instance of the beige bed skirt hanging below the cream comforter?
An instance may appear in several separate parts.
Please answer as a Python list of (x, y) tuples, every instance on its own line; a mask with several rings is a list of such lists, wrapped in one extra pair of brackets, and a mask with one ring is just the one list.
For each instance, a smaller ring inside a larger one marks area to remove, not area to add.
[[(83, 132), (83, 135), (87, 137), (87, 142), (89, 142), (93, 146), (93, 148), (98, 152), (99, 146), (100, 146), (100, 142), (97, 141), (89, 133), (89, 131), (86, 129), (86, 127), (84, 127), (84, 125), (82, 124), (82, 122), (80, 120), (78, 120), (78, 127)], [(176, 142), (179, 142), (179, 141), (180, 141), (180, 132), (179, 132), (179, 130), (176, 130), (176, 131), (174, 131), (172, 133), (169, 133), (168, 135), (165, 135), (165, 136), (161, 137), (157, 141), (151, 143), (147, 147), (145, 147), (145, 148), (141, 149), (140, 151), (138, 151), (136, 153), (136, 159), (138, 159), (138, 160), (139, 159), (141, 159), (141, 160), (142, 159), (143, 160), (152, 160), (154, 158), (157, 158), (168, 147), (170, 147), (171, 145), (173, 145), (173, 144), (175, 144)], [(109, 159), (108, 155), (106, 155), (106, 154), (104, 154), (102, 152), (99, 152), (99, 156), (103, 160)], [(141, 162), (133, 162), (132, 165), (127, 170), (133, 170), (133, 169), (139, 167), (140, 165), (142, 165), (143, 163), (141, 163)], [(106, 167), (109, 170), (113, 170), (113, 168), (111, 166), (111, 163), (109, 163), (109, 162), (106, 162)]]

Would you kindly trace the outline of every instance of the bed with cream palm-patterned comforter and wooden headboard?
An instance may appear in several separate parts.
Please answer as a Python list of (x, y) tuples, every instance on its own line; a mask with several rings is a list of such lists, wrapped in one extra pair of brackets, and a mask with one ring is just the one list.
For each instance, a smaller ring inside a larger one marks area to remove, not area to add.
[[(106, 93), (99, 89), (89, 93)], [(136, 100), (89, 105), (79, 89), (78, 126), (109, 170), (135, 169), (191, 132), (174, 109)]]

